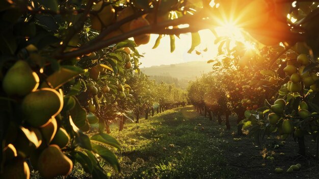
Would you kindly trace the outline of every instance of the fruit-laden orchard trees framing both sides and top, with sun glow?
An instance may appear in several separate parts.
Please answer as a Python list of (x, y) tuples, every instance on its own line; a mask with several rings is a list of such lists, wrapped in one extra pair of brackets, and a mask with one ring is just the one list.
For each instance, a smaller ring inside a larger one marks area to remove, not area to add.
[[(318, 145), (317, 2), (1, 0), (0, 5), (4, 178), (29, 178), (31, 170), (44, 178), (67, 176), (75, 163), (93, 178), (105, 178), (101, 160), (120, 171), (110, 148), (120, 149), (120, 143), (109, 134), (110, 124), (122, 130), (141, 115), (148, 119), (187, 103), (210, 119), (217, 115), (219, 123), (225, 115), (226, 129), (229, 116), (237, 115), (237, 134), (248, 130), (256, 143), (265, 135), (293, 137), (300, 155), (304, 136)], [(245, 40), (218, 36), (214, 28), (225, 23), (241, 28)], [(175, 38), (191, 33), (192, 53), (203, 29), (216, 36), (218, 56), (208, 61), (212, 72), (191, 82), (187, 92), (141, 73), (143, 55), (136, 47), (149, 43), (150, 34), (158, 34), (153, 48), (167, 36), (174, 52)]]

